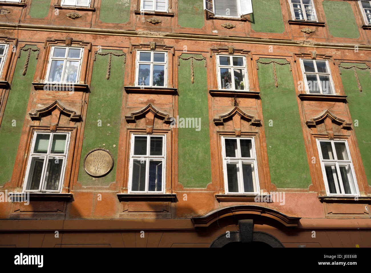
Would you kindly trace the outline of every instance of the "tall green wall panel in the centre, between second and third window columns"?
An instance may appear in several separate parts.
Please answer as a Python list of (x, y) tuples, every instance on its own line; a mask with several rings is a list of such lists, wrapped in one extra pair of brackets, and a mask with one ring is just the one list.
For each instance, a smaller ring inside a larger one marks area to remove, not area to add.
[[(182, 54), (182, 57), (201, 55)], [(191, 83), (191, 60), (178, 66), (179, 118), (201, 118), (200, 131), (178, 129), (178, 181), (185, 188), (206, 188), (211, 182), (209, 111), (204, 60), (194, 60), (194, 83)]]

